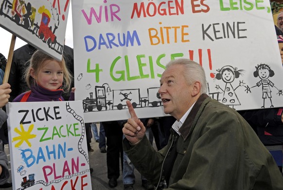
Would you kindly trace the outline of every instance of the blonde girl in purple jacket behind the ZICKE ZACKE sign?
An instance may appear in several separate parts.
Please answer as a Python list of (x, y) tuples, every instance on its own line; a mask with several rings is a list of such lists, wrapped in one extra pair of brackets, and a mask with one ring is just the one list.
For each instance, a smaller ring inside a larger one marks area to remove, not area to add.
[[(64, 101), (62, 93), (71, 88), (71, 78), (64, 58), (57, 61), (36, 50), (24, 73), (30, 90), (18, 95), (13, 102)], [(70, 99), (74, 100), (74, 88), (71, 94)]]

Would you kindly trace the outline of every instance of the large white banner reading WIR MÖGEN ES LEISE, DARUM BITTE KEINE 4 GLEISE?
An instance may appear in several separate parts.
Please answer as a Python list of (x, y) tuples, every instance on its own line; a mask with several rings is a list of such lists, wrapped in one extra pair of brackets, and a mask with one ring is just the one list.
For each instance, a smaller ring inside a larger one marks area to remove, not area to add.
[(283, 106), (283, 68), (269, 0), (72, 1), (75, 87), (85, 119), (164, 115), (166, 63), (190, 58), (212, 98), (236, 110)]

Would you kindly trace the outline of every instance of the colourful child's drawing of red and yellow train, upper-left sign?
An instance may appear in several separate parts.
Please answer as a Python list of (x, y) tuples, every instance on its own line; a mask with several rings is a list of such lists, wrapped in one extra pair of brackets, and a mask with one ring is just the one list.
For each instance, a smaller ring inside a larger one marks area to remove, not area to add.
[(58, 13), (53, 7), (48, 8), (42, 5), (36, 10), (31, 2), (26, 3), (25, 0), (3, 0), (0, 5), (0, 16), (35, 34), (49, 48), (62, 54), (64, 46), (57, 41), (55, 35), (59, 25), (56, 18)]

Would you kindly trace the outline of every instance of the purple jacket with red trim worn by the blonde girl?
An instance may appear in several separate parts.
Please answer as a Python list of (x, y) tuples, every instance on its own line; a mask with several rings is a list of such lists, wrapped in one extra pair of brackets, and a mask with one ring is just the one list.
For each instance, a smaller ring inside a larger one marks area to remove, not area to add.
[[(42, 101), (64, 101), (64, 98), (62, 97), (62, 89), (58, 90), (48, 90), (46, 88), (43, 88), (39, 85), (32, 86), (31, 88), (31, 94), (29, 95), (26, 102), (42, 102)], [(21, 95), (18, 95), (13, 102), (20, 102), (20, 100), (23, 98), (23, 96), (26, 94), (22, 93)]]

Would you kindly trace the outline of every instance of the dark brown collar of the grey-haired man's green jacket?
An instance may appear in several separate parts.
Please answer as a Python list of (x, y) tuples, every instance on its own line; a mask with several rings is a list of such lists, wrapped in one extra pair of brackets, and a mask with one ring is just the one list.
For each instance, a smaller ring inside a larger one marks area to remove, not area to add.
[(199, 98), (195, 102), (194, 107), (192, 108), (191, 112), (189, 113), (188, 117), (183, 123), (182, 127), (180, 127), (179, 132), (182, 135), (184, 140), (186, 140), (189, 137), (193, 122), (195, 120), (195, 116), (198, 110), (200, 109), (201, 104), (207, 97), (208, 97), (207, 94), (202, 94), (199, 96)]

